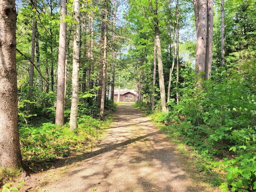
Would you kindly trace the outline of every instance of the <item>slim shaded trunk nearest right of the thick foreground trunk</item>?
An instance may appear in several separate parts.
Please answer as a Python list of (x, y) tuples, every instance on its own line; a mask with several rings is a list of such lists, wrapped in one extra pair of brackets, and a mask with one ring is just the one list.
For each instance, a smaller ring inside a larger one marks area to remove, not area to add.
[[(36, 0), (31, 0), (32, 10), (36, 9)], [(29, 84), (28, 84), (28, 100), (32, 101), (33, 94), (33, 82), (34, 82), (34, 63), (35, 63), (35, 40), (36, 40), (36, 12), (33, 11), (33, 22), (32, 22), (32, 38), (31, 38), (31, 62), (30, 62), (30, 73), (29, 73)], [(31, 110), (29, 104), (28, 111)]]

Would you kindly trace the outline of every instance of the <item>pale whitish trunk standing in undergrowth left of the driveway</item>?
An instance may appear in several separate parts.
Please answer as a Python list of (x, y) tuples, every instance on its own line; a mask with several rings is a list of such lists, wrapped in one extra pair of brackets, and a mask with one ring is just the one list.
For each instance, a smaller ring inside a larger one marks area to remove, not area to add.
[(74, 20), (76, 21), (73, 43), (72, 100), (70, 111), (70, 129), (77, 127), (78, 89), (79, 89), (79, 55), (80, 55), (80, 3), (74, 0)]

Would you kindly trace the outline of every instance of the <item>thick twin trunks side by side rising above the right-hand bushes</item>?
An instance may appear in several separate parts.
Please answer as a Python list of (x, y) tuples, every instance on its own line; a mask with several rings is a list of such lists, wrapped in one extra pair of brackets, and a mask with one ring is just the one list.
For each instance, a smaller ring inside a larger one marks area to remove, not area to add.
[(196, 20), (196, 75), (210, 77), (212, 70), (213, 1), (194, 0)]

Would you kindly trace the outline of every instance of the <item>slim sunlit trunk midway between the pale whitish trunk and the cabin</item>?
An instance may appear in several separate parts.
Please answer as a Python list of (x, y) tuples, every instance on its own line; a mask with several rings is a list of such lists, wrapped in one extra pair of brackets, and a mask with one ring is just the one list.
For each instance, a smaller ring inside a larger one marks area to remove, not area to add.
[[(104, 20), (108, 19), (108, 1), (105, 1), (104, 7)], [(106, 96), (106, 86), (107, 86), (107, 25), (106, 22), (104, 24), (104, 44), (103, 44), (103, 55), (101, 58), (102, 62), (102, 93), (101, 93), (101, 101), (100, 101), (100, 119), (103, 120), (104, 116), (104, 106), (105, 106), (105, 96)]]

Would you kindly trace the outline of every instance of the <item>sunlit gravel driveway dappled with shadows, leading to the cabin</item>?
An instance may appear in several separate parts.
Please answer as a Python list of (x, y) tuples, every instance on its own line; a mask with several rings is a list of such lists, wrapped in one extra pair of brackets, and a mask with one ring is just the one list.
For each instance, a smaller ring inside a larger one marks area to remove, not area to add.
[(131, 103), (118, 105), (114, 123), (86, 157), (50, 170), (45, 192), (200, 192), (168, 137)]

